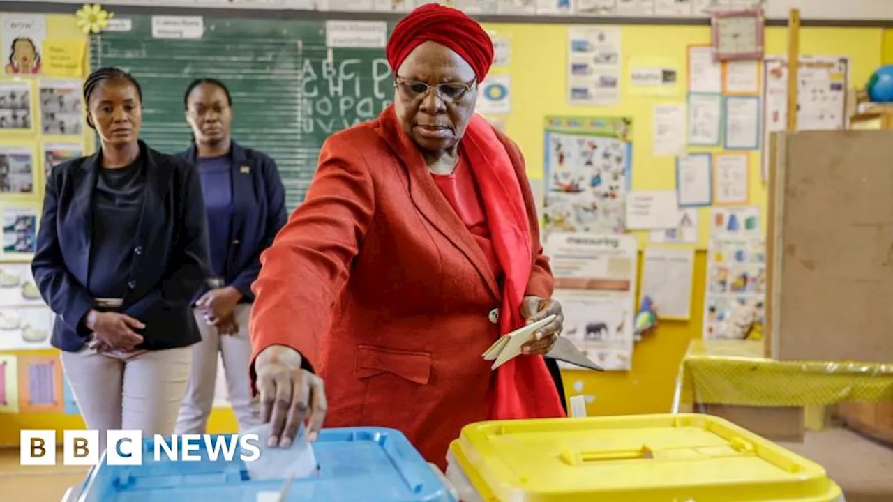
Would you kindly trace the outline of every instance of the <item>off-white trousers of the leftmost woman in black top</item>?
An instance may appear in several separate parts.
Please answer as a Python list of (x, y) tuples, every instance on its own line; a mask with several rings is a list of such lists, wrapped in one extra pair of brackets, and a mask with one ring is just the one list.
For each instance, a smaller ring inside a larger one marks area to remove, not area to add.
[(126, 361), (84, 347), (62, 352), (65, 377), (87, 428), (171, 435), (189, 377), (191, 347), (148, 351)]

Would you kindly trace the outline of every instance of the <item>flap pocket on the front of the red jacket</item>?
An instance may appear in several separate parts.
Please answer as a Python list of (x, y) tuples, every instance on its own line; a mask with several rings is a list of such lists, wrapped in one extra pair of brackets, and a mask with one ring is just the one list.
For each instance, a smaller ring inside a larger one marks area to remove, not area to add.
[(385, 372), (419, 385), (428, 385), (431, 377), (431, 355), (428, 352), (371, 345), (356, 347), (356, 378), (370, 378)]

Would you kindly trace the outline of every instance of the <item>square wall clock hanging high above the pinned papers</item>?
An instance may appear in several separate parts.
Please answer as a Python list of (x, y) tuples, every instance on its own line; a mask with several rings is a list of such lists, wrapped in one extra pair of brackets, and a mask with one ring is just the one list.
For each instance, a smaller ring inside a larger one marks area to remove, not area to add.
[(742, 61), (763, 58), (765, 18), (762, 9), (714, 12), (710, 19), (714, 60)]

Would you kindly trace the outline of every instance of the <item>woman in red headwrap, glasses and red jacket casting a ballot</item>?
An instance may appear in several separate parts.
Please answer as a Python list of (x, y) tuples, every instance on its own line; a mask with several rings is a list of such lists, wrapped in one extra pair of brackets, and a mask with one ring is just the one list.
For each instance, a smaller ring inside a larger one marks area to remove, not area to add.
[[(474, 114), (488, 34), (426, 4), (387, 53), (394, 105), (326, 140), (263, 253), (252, 374), (273, 443), (305, 421), (311, 440), (323, 419), (392, 427), (442, 467), (468, 423), (564, 415), (542, 356), (563, 317), (521, 152)], [(490, 371), (498, 336), (549, 314), (526, 356)]]

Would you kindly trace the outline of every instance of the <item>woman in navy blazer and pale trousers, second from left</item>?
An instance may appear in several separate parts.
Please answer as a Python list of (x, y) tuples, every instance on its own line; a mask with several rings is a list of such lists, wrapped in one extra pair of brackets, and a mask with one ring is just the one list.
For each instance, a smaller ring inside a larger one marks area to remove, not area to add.
[(261, 423), (248, 378), (251, 284), (261, 270), (261, 253), (288, 219), (285, 189), (269, 156), (232, 140), (232, 98), (221, 81), (194, 80), (183, 105), (193, 144), (181, 156), (196, 165), (202, 180), (214, 277), (212, 287), (196, 300), (202, 341), (193, 347), (177, 432), (204, 432), (213, 406), (218, 354), (230, 403), (239, 426), (246, 429)]

